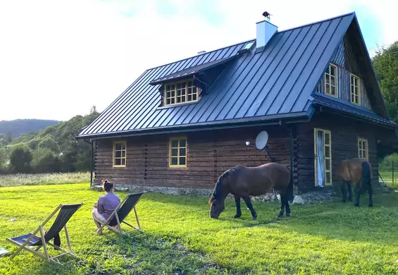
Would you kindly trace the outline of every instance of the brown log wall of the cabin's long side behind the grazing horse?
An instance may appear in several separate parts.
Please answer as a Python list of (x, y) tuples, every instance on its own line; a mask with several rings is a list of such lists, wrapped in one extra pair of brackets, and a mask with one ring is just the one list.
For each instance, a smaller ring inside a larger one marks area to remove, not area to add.
[[(178, 133), (187, 136), (187, 168), (168, 166), (169, 138), (151, 135), (127, 139), (126, 167), (112, 166), (113, 140), (96, 141), (95, 181), (108, 178), (114, 183), (182, 188), (213, 188), (217, 178), (235, 165), (259, 166), (270, 162), (266, 152), (255, 147), (256, 135), (267, 130), (270, 154), (290, 167), (290, 143), (285, 126), (237, 128)], [(249, 147), (245, 142), (251, 142)], [(297, 181), (297, 169), (295, 179)]]

